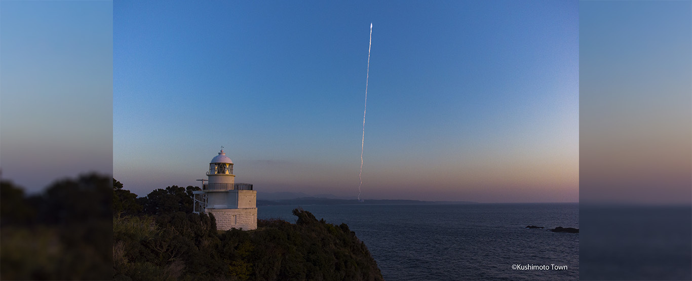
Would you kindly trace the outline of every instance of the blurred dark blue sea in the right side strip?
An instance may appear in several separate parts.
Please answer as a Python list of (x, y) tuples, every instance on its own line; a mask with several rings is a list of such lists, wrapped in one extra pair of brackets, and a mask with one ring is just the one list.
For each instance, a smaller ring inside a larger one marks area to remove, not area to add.
[(692, 280), (691, 206), (579, 210), (583, 280)]

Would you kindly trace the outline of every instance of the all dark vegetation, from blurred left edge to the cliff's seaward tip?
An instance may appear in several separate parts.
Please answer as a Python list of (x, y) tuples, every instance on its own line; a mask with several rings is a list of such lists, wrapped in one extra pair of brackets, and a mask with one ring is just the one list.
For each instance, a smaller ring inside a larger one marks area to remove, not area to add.
[(26, 194), (1, 180), (0, 280), (382, 280), (345, 224), (299, 209), (296, 224), (217, 231), (214, 217), (192, 213), (194, 190), (138, 198), (85, 174)]

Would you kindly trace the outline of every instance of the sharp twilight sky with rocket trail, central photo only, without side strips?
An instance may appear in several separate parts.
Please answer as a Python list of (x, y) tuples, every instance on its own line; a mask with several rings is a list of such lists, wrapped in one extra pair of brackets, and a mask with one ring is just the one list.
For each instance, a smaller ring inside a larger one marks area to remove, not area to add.
[(579, 201), (579, 3), (113, 2), (113, 176), (257, 192)]

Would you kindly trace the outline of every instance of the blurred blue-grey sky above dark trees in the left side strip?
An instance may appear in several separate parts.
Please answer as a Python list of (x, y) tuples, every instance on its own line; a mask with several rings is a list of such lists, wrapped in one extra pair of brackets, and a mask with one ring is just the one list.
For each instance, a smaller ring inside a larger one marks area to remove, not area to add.
[(0, 1), (3, 179), (112, 173), (112, 30), (108, 1)]

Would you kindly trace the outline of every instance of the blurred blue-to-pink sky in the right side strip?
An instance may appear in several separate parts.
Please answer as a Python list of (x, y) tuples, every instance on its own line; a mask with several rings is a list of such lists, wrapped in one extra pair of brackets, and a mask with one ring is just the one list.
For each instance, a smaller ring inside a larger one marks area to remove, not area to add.
[(580, 3), (580, 203), (692, 203), (692, 1)]

